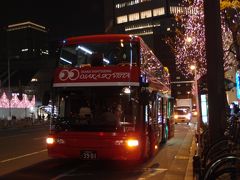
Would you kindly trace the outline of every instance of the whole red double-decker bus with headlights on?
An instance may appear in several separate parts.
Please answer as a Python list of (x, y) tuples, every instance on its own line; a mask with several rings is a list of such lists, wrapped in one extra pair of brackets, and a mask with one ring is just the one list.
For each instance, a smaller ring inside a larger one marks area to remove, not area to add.
[(51, 157), (145, 160), (173, 129), (169, 73), (138, 36), (66, 39), (52, 97)]

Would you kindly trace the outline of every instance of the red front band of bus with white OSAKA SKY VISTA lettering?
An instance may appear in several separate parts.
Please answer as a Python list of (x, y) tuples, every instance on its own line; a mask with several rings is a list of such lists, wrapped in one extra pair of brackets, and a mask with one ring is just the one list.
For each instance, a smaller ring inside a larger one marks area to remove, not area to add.
[[(58, 68), (55, 71), (56, 86), (120, 85), (122, 83), (139, 85), (138, 67), (96, 67), (96, 68)], [(103, 84), (102, 84), (103, 85)]]

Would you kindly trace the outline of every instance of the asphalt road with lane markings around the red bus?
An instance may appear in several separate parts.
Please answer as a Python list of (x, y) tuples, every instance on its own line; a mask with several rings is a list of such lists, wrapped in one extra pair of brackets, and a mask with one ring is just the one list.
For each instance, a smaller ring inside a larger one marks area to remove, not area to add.
[(175, 136), (144, 164), (57, 160), (47, 156), (48, 129), (0, 130), (0, 179), (184, 180), (193, 125), (177, 124)]

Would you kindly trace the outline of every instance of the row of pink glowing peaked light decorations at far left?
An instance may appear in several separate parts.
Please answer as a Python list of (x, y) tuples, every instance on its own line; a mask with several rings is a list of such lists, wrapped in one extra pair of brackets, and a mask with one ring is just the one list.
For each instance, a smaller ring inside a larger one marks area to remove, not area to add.
[[(35, 107), (35, 96), (31, 100), (28, 99), (26, 94), (23, 94), (23, 99), (20, 101), (17, 97), (18, 94), (13, 93), (10, 100), (11, 108), (33, 108)], [(9, 108), (9, 99), (4, 92), (0, 97), (0, 108)]]

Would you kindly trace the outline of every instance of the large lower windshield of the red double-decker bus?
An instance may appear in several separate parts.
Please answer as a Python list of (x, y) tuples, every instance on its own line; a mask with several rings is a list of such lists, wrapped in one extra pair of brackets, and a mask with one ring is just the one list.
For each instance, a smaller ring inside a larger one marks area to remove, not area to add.
[(135, 131), (139, 119), (136, 87), (57, 88), (58, 131)]

